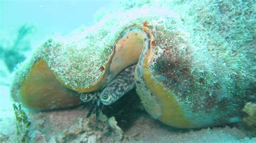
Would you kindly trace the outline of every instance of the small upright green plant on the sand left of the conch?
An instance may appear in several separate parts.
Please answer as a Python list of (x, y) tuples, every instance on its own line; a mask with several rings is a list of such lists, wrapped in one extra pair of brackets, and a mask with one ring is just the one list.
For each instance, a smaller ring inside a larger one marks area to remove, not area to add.
[(16, 104), (13, 104), (14, 106), (14, 112), (16, 116), (16, 128), (17, 128), (17, 138), (18, 142), (28, 142), (29, 141), (29, 127), (31, 124), (31, 121), (28, 119), (28, 116), (26, 116), (26, 113), (22, 110), (21, 104), (16, 106)]

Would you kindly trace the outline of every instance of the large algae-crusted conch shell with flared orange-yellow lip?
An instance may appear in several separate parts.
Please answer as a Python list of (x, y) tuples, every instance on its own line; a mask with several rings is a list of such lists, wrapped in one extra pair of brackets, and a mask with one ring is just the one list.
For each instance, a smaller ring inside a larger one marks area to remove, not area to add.
[(252, 45), (237, 49), (220, 31), (207, 32), (199, 18), (193, 24), (169, 9), (111, 16), (74, 40), (51, 39), (36, 49), (16, 69), (12, 96), (35, 110), (79, 105), (77, 91), (103, 89), (138, 63), (136, 90), (145, 110), (170, 126), (234, 123), (245, 102), (255, 99), (253, 70), (247, 68), (252, 56), (244, 52), (255, 52)]

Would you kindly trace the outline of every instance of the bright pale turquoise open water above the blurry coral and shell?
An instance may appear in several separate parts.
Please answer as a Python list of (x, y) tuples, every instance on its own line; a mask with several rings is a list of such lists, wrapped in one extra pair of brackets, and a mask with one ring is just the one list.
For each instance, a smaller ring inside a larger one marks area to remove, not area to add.
[[(97, 10), (113, 1), (1, 1), (1, 39), (13, 39), (19, 27), (33, 26), (31, 46), (44, 42), (46, 35), (69, 34), (80, 26), (90, 26)], [(4, 41), (3, 41), (4, 42)]]

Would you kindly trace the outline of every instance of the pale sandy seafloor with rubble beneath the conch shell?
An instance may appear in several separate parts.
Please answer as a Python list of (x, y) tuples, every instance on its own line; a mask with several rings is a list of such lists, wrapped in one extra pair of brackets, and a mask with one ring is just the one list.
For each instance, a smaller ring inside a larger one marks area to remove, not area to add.
[[(16, 119), (9, 87), (1, 85), (0, 142), (16, 142)], [(25, 109), (24, 109), (25, 110)], [(31, 112), (30, 142), (256, 142), (235, 125), (180, 130), (152, 119), (146, 112), (134, 113), (136, 119), (122, 133), (118, 128), (86, 118), (83, 106), (48, 112)]]

